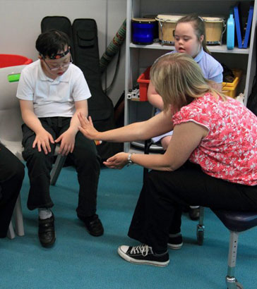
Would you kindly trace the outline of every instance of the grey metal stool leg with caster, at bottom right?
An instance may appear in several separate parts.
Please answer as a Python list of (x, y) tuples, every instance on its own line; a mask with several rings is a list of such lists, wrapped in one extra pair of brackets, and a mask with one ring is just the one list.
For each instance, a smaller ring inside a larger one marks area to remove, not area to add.
[(226, 284), (227, 289), (242, 289), (242, 285), (237, 282), (236, 277), (234, 276), (234, 271), (236, 268), (237, 262), (237, 245), (238, 245), (239, 233), (235, 231), (230, 231), (230, 240), (229, 240), (229, 257), (227, 261), (227, 276)]

